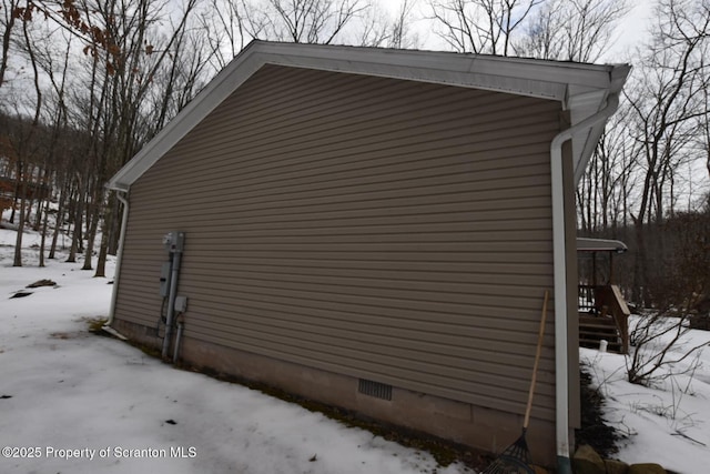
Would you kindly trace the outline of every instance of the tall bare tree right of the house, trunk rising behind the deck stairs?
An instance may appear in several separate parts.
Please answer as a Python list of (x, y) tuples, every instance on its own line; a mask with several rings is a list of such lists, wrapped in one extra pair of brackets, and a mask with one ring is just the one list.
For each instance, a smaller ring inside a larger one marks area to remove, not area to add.
[(638, 249), (633, 299), (646, 304), (650, 303), (651, 265), (645, 225), (661, 222), (667, 184), (686, 159), (688, 138), (694, 134), (697, 119), (707, 115), (703, 90), (710, 70), (701, 52), (710, 41), (709, 4), (710, 0), (701, 4), (689, 0), (659, 2), (653, 42), (627, 93), (633, 110), (629, 130), (640, 148), (639, 169), (643, 171), (638, 208), (631, 214)]

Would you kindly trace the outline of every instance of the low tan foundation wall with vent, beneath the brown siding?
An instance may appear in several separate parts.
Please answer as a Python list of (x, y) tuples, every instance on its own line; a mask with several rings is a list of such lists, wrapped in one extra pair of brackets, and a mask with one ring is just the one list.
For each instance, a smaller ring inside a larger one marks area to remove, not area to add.
[[(113, 327), (141, 344), (160, 349), (151, 329), (125, 321)], [(513, 415), (469, 403), (392, 387), (392, 400), (358, 391), (359, 380), (286, 361), (185, 337), (180, 361), (222, 375), (260, 382), (308, 400), (346, 409), (367, 418), (428, 433), (490, 453), (499, 453), (520, 436), (524, 414)], [(555, 463), (555, 425), (535, 418), (526, 436), (534, 462)]]

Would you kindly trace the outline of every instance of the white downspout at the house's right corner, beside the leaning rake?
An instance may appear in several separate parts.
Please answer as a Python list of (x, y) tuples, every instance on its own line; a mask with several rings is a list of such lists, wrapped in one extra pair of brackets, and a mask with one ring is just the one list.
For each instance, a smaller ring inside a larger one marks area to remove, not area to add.
[(607, 105), (574, 127), (561, 131), (550, 144), (552, 179), (552, 242), (555, 262), (555, 390), (557, 473), (571, 474), (569, 458), (569, 381), (567, 363), (567, 263), (565, 241), (565, 193), (562, 181), (562, 144), (577, 133), (607, 120), (619, 105), (619, 95), (611, 93)]

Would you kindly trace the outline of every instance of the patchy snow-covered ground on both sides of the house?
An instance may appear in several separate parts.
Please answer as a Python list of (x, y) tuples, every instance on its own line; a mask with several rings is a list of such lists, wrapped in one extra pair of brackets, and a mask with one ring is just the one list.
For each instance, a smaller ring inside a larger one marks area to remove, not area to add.
[[(83, 262), (64, 263), (65, 254), (37, 268), (39, 238), (31, 232), (26, 266), (12, 268), (14, 239), (0, 230), (0, 448), (10, 447), (0, 473), (471, 472), (90, 334), (88, 321), (108, 315), (109, 279), (79, 270)], [(10, 297), (41, 279), (57, 286)], [(710, 333), (688, 337), (700, 343)], [(607, 396), (607, 418), (628, 434), (619, 458), (707, 472), (710, 349), (692, 373), (657, 389), (627, 383), (620, 355), (582, 350), (581, 359)]]

